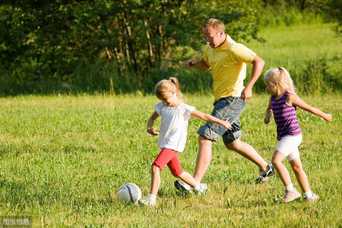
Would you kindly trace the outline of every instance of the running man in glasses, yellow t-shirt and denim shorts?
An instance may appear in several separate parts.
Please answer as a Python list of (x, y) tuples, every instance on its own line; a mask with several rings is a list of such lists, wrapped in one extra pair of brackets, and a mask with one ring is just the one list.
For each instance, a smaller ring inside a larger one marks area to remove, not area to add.
[[(245, 108), (246, 100), (252, 96), (252, 86), (259, 78), (265, 62), (246, 46), (236, 43), (224, 32), (224, 25), (211, 18), (203, 25), (203, 39), (209, 45), (200, 60), (189, 59), (187, 68), (197, 68), (202, 71), (212, 70), (213, 90), (215, 93), (214, 110), (211, 115), (226, 120), (232, 124), (232, 130), (224, 129), (219, 124), (207, 122), (197, 133), (198, 153), (194, 172), (195, 180), (200, 183), (211, 160), (211, 146), (222, 136), (228, 150), (238, 152), (259, 166), (257, 182), (266, 182), (275, 174), (271, 162), (266, 162), (249, 144), (242, 142), (242, 130), (239, 126), (239, 116)], [(253, 64), (251, 77), (246, 87), (246, 64)], [(176, 180), (175, 187), (190, 191), (190, 186)]]

